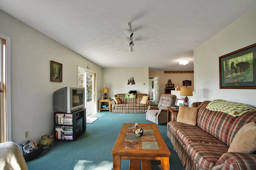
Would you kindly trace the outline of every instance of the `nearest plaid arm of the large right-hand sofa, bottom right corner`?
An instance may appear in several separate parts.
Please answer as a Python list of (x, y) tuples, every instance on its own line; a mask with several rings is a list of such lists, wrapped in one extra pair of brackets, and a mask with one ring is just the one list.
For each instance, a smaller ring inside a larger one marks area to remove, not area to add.
[(226, 152), (222, 154), (212, 170), (255, 170), (256, 154)]

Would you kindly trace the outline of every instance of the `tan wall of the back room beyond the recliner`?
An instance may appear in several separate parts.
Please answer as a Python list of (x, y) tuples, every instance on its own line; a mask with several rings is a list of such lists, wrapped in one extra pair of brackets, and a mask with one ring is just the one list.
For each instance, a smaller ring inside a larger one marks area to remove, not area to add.
[[(167, 70), (168, 71), (168, 70)], [(175, 73), (175, 74), (164, 74), (163, 71), (150, 71), (148, 74), (149, 77), (158, 77), (158, 96), (164, 94), (164, 88), (168, 82), (169, 79), (172, 80), (172, 83), (174, 84), (175, 87), (185, 87), (182, 86), (182, 81), (183, 80), (191, 80), (192, 81), (192, 87), (194, 89), (194, 74), (193, 73)]]

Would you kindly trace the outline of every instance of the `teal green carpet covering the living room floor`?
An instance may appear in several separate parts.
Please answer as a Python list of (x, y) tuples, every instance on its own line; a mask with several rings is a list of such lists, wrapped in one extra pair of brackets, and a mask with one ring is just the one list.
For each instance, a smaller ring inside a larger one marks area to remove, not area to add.
[[(27, 162), (29, 170), (112, 170), (111, 151), (123, 123), (152, 123), (145, 113), (110, 113), (102, 111), (92, 117), (99, 119), (87, 124), (85, 133), (76, 141), (55, 141), (54, 147), (43, 150), (34, 160)], [(184, 170), (180, 158), (172, 150), (166, 136), (166, 124), (158, 125), (170, 149), (170, 169)], [(121, 170), (128, 170), (129, 160), (122, 160)], [(152, 163), (153, 170), (160, 169), (160, 161)]]

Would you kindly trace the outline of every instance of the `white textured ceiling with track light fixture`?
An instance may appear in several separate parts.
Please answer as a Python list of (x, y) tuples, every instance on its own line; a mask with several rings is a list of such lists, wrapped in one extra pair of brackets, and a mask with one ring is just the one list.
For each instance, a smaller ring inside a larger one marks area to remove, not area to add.
[(256, 0), (0, 0), (1, 10), (103, 68), (174, 71), (194, 70), (193, 49), (255, 6)]

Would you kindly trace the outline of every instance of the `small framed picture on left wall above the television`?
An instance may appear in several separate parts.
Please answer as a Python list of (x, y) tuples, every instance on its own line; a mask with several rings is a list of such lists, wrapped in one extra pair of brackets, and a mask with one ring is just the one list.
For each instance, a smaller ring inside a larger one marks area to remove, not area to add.
[(50, 81), (62, 82), (62, 64), (55, 61), (50, 62)]

